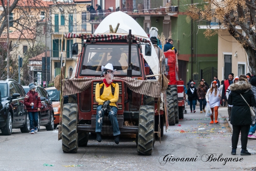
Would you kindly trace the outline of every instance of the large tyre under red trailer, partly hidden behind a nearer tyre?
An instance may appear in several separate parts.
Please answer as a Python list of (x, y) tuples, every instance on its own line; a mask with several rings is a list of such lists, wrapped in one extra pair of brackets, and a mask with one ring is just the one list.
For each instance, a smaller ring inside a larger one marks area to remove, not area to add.
[(173, 96), (175, 123), (179, 123), (177, 85), (168, 85), (166, 94)]

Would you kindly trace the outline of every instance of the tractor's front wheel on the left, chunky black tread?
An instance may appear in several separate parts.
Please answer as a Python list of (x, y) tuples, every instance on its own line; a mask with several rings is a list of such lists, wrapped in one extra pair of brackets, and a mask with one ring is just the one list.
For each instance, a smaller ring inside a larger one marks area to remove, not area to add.
[(78, 149), (78, 106), (76, 103), (67, 103), (62, 112), (62, 150), (66, 153), (76, 153)]

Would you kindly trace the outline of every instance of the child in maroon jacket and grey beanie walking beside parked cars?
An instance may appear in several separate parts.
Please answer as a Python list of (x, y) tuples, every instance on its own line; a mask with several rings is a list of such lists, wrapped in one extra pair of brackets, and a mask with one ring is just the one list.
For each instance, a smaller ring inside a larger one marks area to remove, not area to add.
[(39, 94), (35, 92), (35, 85), (33, 83), (29, 84), (29, 92), (25, 96), (24, 104), (29, 113), (31, 134), (37, 133), (38, 111), (41, 110), (41, 99)]

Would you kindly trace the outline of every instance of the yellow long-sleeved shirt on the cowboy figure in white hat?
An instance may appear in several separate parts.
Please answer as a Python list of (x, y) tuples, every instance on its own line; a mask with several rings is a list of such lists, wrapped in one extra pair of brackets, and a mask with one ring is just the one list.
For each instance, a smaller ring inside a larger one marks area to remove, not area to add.
[[(114, 92), (112, 92), (112, 88), (114, 88)], [(103, 92), (100, 92), (102, 91)], [(113, 94), (114, 93), (114, 94)], [(96, 84), (95, 89), (95, 100), (100, 104), (103, 104), (106, 100), (110, 100), (110, 106), (116, 106), (116, 102), (118, 100), (119, 95), (119, 85), (115, 82), (112, 82), (110, 86), (106, 87), (105, 83), (101, 81)], [(117, 107), (117, 106), (116, 106)]]

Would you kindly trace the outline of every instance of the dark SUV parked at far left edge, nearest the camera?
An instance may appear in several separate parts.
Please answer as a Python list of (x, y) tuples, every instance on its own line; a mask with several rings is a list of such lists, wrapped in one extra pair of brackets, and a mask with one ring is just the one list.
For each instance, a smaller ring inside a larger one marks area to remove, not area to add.
[(29, 115), (24, 105), (25, 91), (17, 81), (0, 80), (1, 105), (0, 129), (3, 135), (11, 135), (12, 128), (29, 133)]

